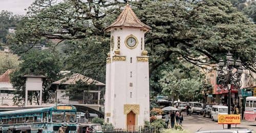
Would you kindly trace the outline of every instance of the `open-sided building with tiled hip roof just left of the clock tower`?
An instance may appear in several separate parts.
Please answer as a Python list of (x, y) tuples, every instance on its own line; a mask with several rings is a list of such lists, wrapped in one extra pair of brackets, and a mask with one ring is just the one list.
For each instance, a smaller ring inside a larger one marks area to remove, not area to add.
[[(82, 91), (80, 94), (67, 95), (67, 87), (69, 85), (75, 85), (78, 81), (88, 86), (78, 88)], [(52, 83), (52, 87), (56, 90), (54, 103), (86, 104), (95, 110), (100, 110), (103, 107), (101, 90), (104, 89), (105, 84), (90, 77), (75, 73)]]

